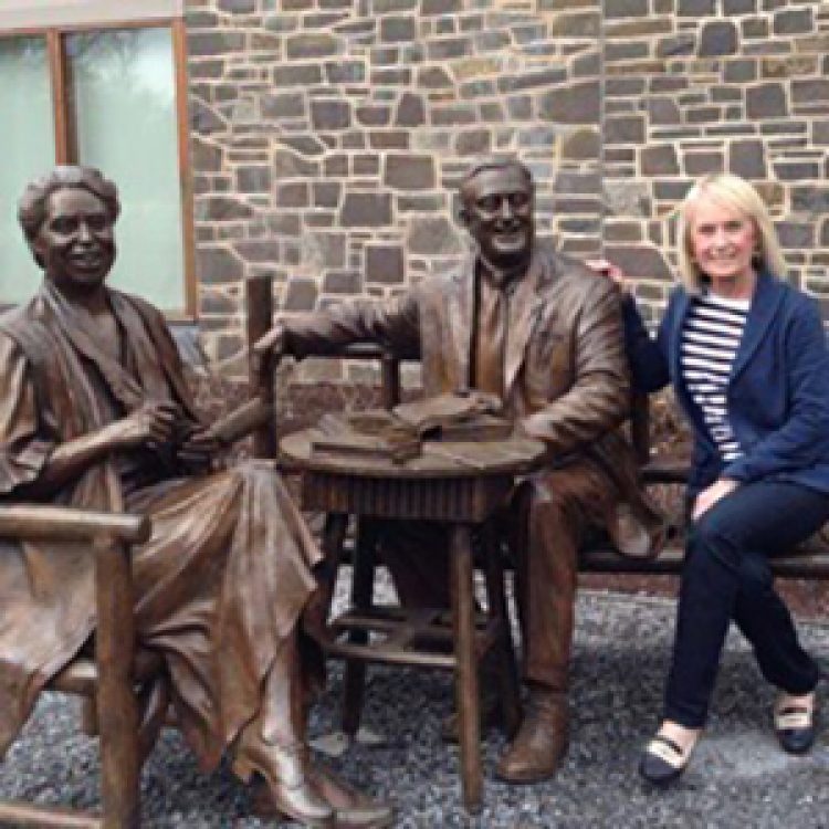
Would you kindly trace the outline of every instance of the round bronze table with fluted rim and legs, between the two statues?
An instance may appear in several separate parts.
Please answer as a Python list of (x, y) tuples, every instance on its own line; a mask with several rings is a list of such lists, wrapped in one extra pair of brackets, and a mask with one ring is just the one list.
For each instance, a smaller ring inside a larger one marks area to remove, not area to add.
[[(363, 600), (354, 601), (354, 607), (328, 621), (318, 634), (327, 652), (347, 660), (347, 668), (357, 661), (375, 661), (454, 671), (463, 797), (468, 809), (478, 810), (483, 776), (476, 668), (491, 648), (500, 654), (507, 726), (517, 724), (521, 715), (503, 570), (487, 521), (504, 506), (515, 476), (531, 471), (542, 459), (544, 444), (525, 438), (427, 442), (420, 457), (393, 463), (387, 458), (318, 451), (312, 447), (314, 434), (314, 429), (306, 429), (283, 438), (280, 450), (287, 464), (302, 473), (302, 508), (327, 514), (323, 547), (334, 568), (351, 515), (434, 521), (449, 528), (449, 619), (445, 608), (375, 606), (369, 585)], [(472, 533), (476, 529), (486, 539), (485, 616), (475, 612)], [(445, 648), (437, 652), (423, 649), (424, 642), (441, 639), (453, 643), (453, 654)], [(346, 715), (348, 707), (346, 702)]]

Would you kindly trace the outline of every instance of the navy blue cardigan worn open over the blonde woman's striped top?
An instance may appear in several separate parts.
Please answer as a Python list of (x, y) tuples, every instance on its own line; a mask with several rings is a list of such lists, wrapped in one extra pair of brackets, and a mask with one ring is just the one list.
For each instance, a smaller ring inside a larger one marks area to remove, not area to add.
[(691, 297), (671, 293), (655, 339), (631, 297), (625, 337), (633, 384), (657, 391), (669, 381), (693, 427), (689, 493), (717, 478), (791, 481), (829, 493), (829, 351), (817, 303), (760, 274), (726, 390), (726, 409), (744, 455), (725, 463), (680, 371), (680, 340)]

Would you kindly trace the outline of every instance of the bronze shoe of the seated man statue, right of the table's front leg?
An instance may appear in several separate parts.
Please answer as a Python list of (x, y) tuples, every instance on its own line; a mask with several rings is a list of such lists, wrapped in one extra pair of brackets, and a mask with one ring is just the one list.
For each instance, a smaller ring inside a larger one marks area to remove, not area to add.
[(534, 690), (524, 721), (501, 757), (495, 776), (506, 783), (541, 783), (558, 769), (568, 741), (565, 694)]

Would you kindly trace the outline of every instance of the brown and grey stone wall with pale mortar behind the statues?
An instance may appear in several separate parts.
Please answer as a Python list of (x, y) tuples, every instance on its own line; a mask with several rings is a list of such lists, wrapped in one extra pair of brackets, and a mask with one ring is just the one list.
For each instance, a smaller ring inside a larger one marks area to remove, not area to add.
[(823, 0), (187, 0), (199, 317), (242, 345), (242, 281), (279, 306), (385, 296), (458, 260), (472, 158), (533, 169), (538, 224), (602, 249), (651, 309), (670, 211), (732, 169), (829, 298)]

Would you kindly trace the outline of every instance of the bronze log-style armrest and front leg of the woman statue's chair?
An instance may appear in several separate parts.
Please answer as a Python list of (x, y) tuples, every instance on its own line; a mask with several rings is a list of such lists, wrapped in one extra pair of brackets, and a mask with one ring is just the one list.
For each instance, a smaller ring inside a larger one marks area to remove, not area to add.
[[(132, 829), (139, 826), (138, 711), (134, 693), (135, 626), (130, 547), (149, 538), (146, 517), (42, 504), (0, 505), (0, 536), (17, 541), (88, 542), (95, 556), (95, 664), (75, 660), (56, 690), (95, 694), (101, 734), (103, 815), (0, 804), (0, 823)], [(75, 670), (73, 670), (75, 669)]]

